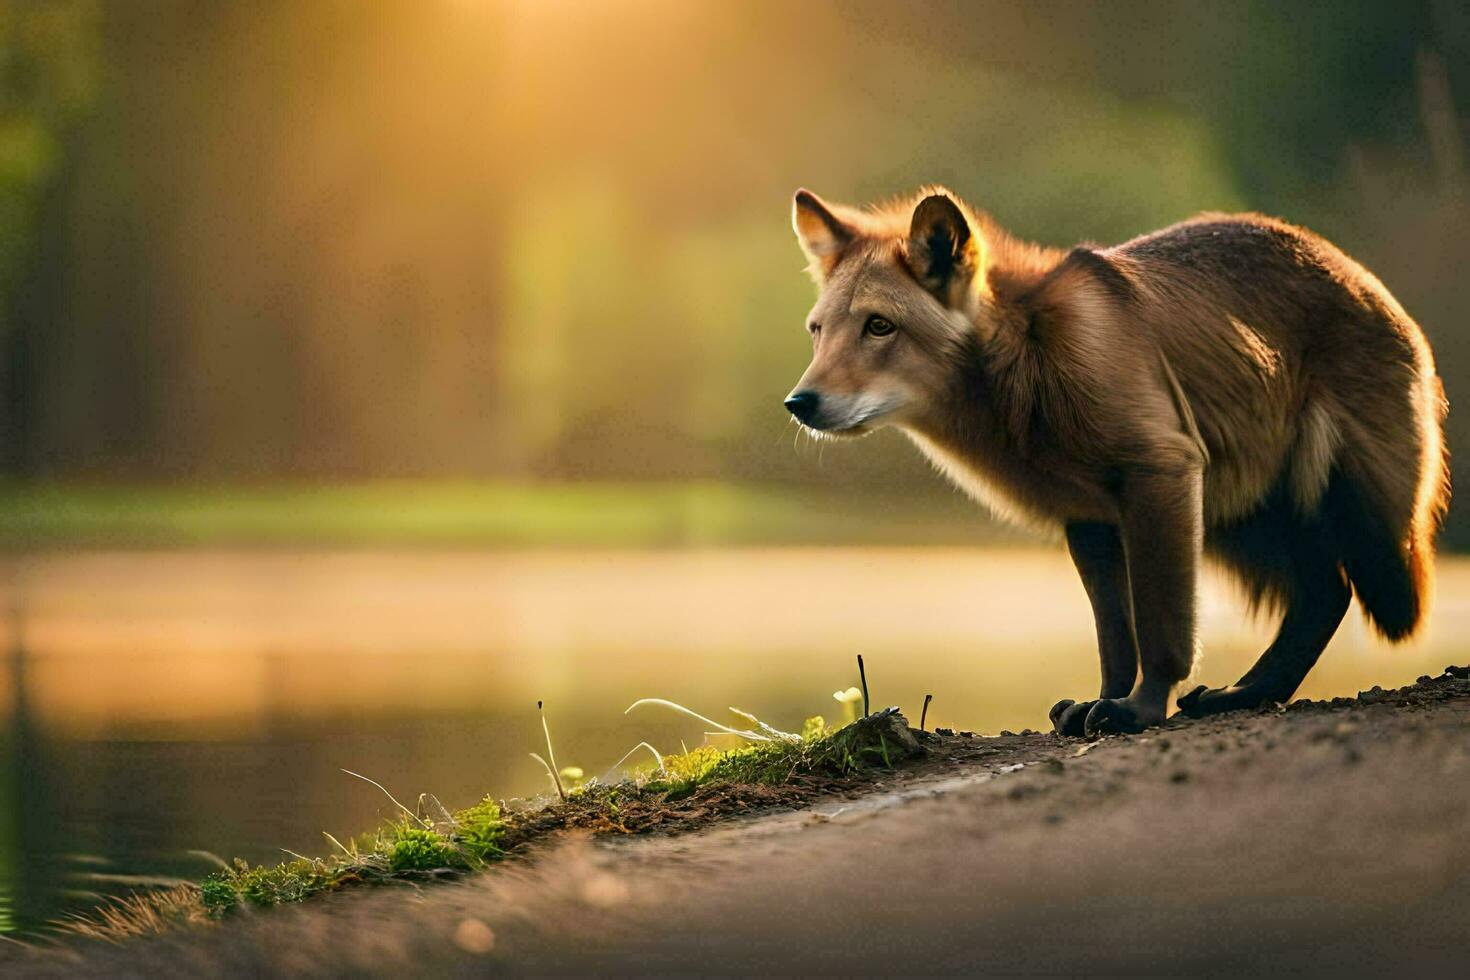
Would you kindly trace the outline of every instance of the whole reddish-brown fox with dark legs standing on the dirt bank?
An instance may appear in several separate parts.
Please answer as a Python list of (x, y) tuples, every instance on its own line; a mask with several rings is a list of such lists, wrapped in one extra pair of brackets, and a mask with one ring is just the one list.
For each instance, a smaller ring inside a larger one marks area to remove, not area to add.
[(1191, 717), (1286, 702), (1357, 595), (1389, 642), (1433, 589), (1448, 403), (1423, 331), (1304, 228), (1202, 213), (1119, 245), (1007, 234), (944, 187), (886, 204), (807, 190), (817, 287), (785, 408), (820, 438), (904, 432), (1003, 519), (1066, 539), (1097, 630), (1097, 698), (1060, 735), (1164, 721), (1195, 670), (1211, 560), (1279, 629)]

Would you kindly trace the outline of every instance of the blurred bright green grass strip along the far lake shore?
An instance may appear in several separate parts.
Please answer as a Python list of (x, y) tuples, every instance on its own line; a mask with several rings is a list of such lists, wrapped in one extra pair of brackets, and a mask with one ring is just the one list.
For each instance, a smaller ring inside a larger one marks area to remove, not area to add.
[(0, 485), (0, 547), (716, 547), (1016, 541), (957, 494), (754, 483)]

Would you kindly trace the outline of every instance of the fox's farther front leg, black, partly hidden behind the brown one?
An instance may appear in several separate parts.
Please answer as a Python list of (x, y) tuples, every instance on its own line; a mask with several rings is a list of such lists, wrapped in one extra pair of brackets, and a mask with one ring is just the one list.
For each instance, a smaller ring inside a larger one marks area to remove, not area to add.
[[(1126, 698), (1138, 679), (1138, 639), (1133, 633), (1133, 595), (1127, 583), (1127, 558), (1117, 525), (1078, 522), (1067, 525), (1067, 551), (1078, 567), (1082, 588), (1092, 602), (1097, 623), (1102, 689), (1098, 698)], [(1058, 735), (1083, 735), (1083, 723), (1097, 701), (1058, 701), (1051, 724)]]

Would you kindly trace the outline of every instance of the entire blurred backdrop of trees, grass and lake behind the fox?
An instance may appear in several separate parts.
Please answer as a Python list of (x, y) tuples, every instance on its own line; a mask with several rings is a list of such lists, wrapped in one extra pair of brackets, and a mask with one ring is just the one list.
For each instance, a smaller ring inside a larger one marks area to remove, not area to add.
[[(792, 190), (1063, 245), (1280, 215), (1454, 404), (1467, 106), (1451, 0), (0, 0), (0, 932), (370, 824), (338, 767), (541, 792), (537, 698), (588, 770), (701, 738), (635, 696), (839, 714), (854, 652), (1041, 727), (1095, 683), (1055, 544), (781, 408)], [(1305, 693), (1438, 670), (1467, 583)], [(1229, 680), (1269, 624), (1204, 614)]]

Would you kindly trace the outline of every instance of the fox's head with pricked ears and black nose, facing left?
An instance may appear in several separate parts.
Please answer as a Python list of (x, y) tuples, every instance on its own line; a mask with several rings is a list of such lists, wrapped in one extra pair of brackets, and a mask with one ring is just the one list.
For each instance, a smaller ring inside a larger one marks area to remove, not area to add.
[(882, 210), (826, 204), (801, 190), (791, 220), (819, 295), (807, 316), (811, 364), (786, 408), (833, 436), (922, 422), (956, 360), (985, 335), (976, 220), (942, 188)]

